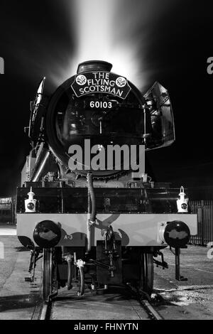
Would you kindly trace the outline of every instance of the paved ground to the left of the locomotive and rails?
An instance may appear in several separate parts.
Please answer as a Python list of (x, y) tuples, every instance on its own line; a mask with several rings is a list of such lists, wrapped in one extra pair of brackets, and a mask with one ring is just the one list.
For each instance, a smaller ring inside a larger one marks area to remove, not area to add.
[[(16, 227), (0, 226), (0, 320), (29, 320), (39, 300), (40, 281), (26, 282), (30, 252), (14, 235)], [(6, 233), (7, 235), (2, 235)], [(3, 250), (2, 250), (3, 249)]]

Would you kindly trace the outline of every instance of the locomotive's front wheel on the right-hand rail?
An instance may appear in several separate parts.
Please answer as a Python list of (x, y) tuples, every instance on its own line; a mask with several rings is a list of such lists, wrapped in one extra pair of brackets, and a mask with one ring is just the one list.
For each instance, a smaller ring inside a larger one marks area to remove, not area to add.
[(147, 293), (151, 296), (153, 291), (153, 279), (154, 279), (154, 267), (153, 267), (153, 254), (141, 253), (140, 259), (140, 281), (138, 284), (139, 293)]

